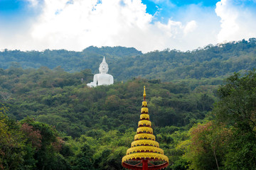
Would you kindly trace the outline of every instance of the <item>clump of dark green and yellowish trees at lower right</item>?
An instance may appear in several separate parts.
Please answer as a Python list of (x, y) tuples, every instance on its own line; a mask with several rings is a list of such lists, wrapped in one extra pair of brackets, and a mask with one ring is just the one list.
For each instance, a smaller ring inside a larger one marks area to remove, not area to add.
[(256, 169), (256, 70), (225, 81), (215, 119), (195, 125), (189, 139), (177, 145), (189, 169)]

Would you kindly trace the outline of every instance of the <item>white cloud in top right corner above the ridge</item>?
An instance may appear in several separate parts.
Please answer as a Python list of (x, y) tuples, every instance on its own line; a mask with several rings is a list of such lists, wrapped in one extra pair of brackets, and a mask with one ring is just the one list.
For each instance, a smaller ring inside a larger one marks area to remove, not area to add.
[(218, 42), (256, 36), (255, 16), (252, 14), (254, 11), (243, 3), (240, 1), (240, 4), (235, 6), (235, 0), (221, 0), (216, 4), (215, 12), (221, 18)]

